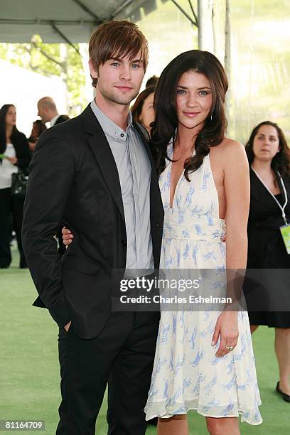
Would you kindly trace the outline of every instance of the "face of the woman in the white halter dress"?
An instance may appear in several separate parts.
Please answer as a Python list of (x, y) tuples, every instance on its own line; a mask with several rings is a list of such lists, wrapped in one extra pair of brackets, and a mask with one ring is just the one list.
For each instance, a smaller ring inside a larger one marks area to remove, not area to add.
[(205, 75), (187, 71), (178, 82), (176, 108), (178, 123), (188, 129), (200, 126), (210, 113), (213, 95)]

